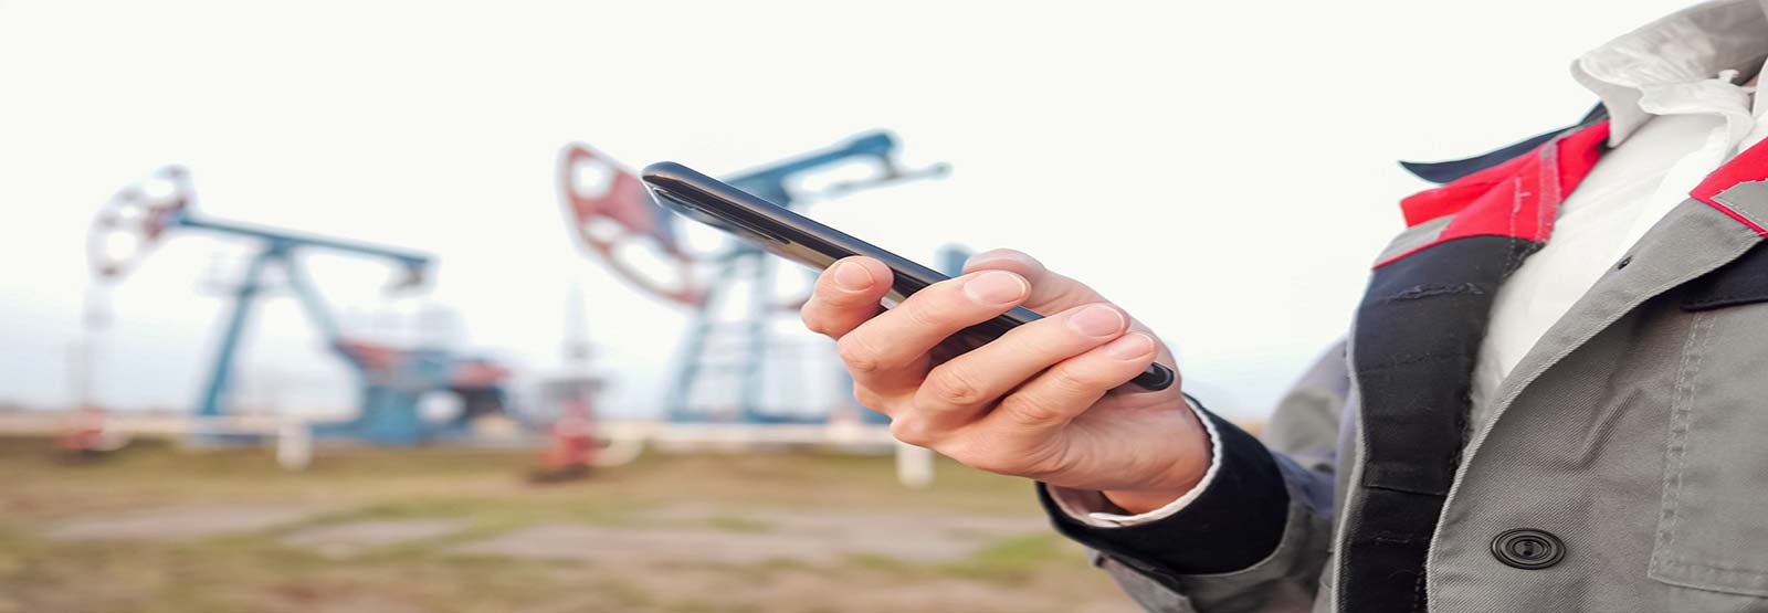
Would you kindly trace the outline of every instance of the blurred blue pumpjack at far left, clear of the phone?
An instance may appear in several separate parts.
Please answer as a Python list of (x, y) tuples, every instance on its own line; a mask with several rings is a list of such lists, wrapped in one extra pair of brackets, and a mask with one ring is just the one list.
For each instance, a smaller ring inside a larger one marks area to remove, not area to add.
[[(331, 251), (384, 260), (403, 270), (398, 286), (417, 286), (423, 284), (424, 272), (433, 263), (428, 254), (198, 217), (191, 210), (194, 196), (189, 175), (182, 168), (163, 168), (152, 182), (163, 185), (159, 194), (134, 185), (127, 187), (95, 219), (92, 260), (99, 277), (117, 279), (126, 274), (170, 230), (200, 230), (258, 244), (244, 277), (233, 286), (233, 300), (202, 399), (196, 403), (196, 415), (226, 413), (226, 392), (233, 380), (235, 353), (246, 334), (253, 306), (265, 288), (265, 274), (272, 267), (281, 270), (288, 290), (301, 304), (301, 311), (325, 339), (327, 348), (350, 364), (359, 376), (361, 412), (350, 420), (315, 424), (316, 436), (415, 445), (440, 436), (461, 435), (472, 417), (502, 410), (500, 380), (507, 373), (490, 360), (458, 357), (438, 348), (394, 350), (347, 339), (299, 258), (308, 251)], [(127, 244), (127, 253), (117, 253), (118, 244)], [(447, 422), (424, 420), (419, 413), (419, 403), (426, 394), (435, 392), (460, 396), (461, 413)]]

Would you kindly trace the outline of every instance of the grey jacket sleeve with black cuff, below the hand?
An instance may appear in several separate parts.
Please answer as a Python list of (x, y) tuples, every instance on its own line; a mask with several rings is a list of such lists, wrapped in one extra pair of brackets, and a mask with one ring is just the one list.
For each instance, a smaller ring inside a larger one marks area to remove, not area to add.
[(1264, 442), (1200, 410), (1216, 435), (1216, 475), (1170, 516), (1098, 526), (1057, 505), (1048, 486), (1038, 496), (1055, 530), (1093, 549), (1094, 564), (1149, 611), (1312, 609), (1331, 548), (1347, 392), (1340, 343), (1284, 396)]

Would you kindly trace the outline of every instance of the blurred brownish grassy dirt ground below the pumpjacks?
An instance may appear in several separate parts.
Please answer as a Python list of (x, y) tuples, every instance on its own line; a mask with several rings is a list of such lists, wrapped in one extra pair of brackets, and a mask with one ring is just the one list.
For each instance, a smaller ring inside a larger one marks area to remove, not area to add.
[(1029, 484), (889, 458), (661, 456), (532, 486), (532, 456), (0, 440), (0, 613), (1078, 611), (1135, 608)]

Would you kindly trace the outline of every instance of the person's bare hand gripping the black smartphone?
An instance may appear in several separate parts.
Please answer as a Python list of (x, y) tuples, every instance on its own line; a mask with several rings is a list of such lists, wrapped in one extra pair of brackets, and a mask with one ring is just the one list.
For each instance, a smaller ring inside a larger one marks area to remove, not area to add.
[[(964, 272), (884, 311), (891, 270), (847, 258), (804, 304), (804, 325), (838, 341), (854, 396), (891, 417), (891, 435), (972, 468), (1098, 489), (1130, 512), (1197, 486), (1209, 436), (1177, 382), (1114, 390), (1172, 364), (1147, 327), (1017, 251), (978, 254)], [(948, 341), (1015, 306), (1045, 318), (964, 353)]]

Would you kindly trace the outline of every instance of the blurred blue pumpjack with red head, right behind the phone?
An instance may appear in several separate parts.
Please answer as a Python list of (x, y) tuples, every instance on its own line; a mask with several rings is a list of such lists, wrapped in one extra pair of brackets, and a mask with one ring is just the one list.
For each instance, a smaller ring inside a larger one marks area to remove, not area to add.
[[(905, 170), (889, 132), (868, 132), (842, 145), (735, 173), (725, 182), (787, 208), (810, 201), (941, 177), (946, 164)], [(868, 166), (870, 177), (801, 189), (804, 178), (843, 166)], [(612, 272), (652, 299), (690, 309), (663, 412), (674, 424), (826, 424), (884, 417), (845, 401), (852, 382), (840, 369), (806, 367), (801, 348), (776, 343), (773, 325), (796, 322), (803, 281), (780, 279), (778, 260), (737, 240), (697, 247), (686, 228), (651, 201), (638, 177), (615, 159), (573, 143), (559, 159), (566, 221), (576, 242)], [(827, 362), (827, 360), (822, 360)], [(826, 373), (826, 375), (812, 375)], [(829, 382), (812, 382), (826, 376)], [(803, 406), (804, 389), (836, 389), (842, 406)], [(794, 389), (797, 387), (797, 389)], [(847, 412), (847, 415), (840, 415)]]

